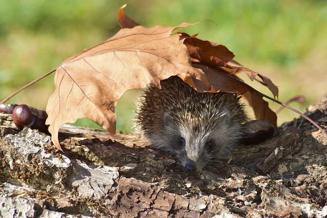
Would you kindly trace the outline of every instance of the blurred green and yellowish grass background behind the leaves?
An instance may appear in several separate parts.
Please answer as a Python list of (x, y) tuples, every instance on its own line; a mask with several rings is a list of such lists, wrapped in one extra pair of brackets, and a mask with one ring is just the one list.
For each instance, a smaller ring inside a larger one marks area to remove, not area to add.
[[(243, 65), (261, 72), (279, 87), (279, 100), (303, 94), (299, 111), (327, 91), (327, 2), (309, 0), (56, 0), (2, 1), (0, 7), (0, 99), (55, 68), (66, 58), (114, 35), (118, 9), (146, 27), (202, 22), (182, 29), (228, 47)], [(7, 103), (45, 109), (54, 91), (54, 75), (20, 92)], [(248, 81), (248, 80), (247, 80)], [(267, 89), (249, 82), (271, 96)], [(130, 132), (138, 91), (129, 91), (116, 107), (117, 129)], [(277, 104), (270, 104), (275, 110)], [(287, 109), (278, 124), (297, 115)], [(79, 120), (78, 125), (90, 125)]]

